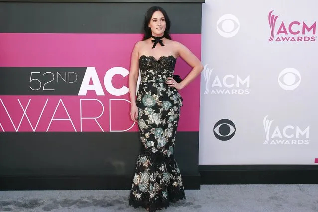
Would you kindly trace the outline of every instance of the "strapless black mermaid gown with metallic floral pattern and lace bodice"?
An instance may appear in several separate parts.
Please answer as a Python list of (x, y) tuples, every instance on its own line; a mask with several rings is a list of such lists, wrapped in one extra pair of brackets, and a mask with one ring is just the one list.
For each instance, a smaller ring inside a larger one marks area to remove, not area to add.
[(186, 198), (178, 164), (175, 137), (182, 98), (165, 83), (173, 77), (176, 58), (139, 58), (141, 82), (137, 93), (138, 127), (142, 149), (137, 158), (129, 205), (149, 211), (167, 208), (169, 202)]

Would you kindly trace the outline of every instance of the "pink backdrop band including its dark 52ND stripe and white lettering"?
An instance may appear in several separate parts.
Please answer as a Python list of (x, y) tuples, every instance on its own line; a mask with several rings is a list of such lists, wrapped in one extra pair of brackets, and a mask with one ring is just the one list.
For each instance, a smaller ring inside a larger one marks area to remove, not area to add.
[[(172, 36), (200, 57), (200, 34)], [(142, 34), (1, 33), (0, 130), (137, 131), (129, 115), (128, 75), (131, 51), (141, 39)], [(176, 70), (187, 69), (179, 59)], [(199, 93), (199, 82), (189, 88)], [(181, 121), (179, 130), (197, 131), (199, 113), (192, 111), (198, 111), (199, 97), (184, 96), (189, 104), (182, 119), (193, 121)]]

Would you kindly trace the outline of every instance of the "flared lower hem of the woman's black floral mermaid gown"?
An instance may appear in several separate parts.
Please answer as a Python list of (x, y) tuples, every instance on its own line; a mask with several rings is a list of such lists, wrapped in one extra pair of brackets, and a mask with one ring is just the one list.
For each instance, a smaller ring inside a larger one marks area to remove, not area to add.
[(182, 177), (173, 155), (164, 157), (142, 150), (137, 158), (129, 206), (155, 212), (182, 199), (186, 199)]

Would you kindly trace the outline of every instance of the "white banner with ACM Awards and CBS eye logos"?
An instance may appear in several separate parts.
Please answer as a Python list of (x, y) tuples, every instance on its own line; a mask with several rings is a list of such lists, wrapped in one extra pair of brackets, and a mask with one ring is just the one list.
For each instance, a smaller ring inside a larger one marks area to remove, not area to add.
[(205, 1), (199, 164), (318, 163), (317, 8)]

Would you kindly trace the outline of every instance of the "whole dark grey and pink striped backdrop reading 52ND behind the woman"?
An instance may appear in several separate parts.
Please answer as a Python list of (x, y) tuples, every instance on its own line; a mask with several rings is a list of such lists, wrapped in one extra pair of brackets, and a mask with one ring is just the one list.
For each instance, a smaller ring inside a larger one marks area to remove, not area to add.
[[(133, 175), (128, 77), (145, 12), (164, 8), (172, 39), (201, 58), (201, 3), (106, 1), (0, 2), (0, 176)], [(175, 74), (190, 71), (177, 59)], [(180, 94), (176, 160), (197, 176), (200, 78)]]

